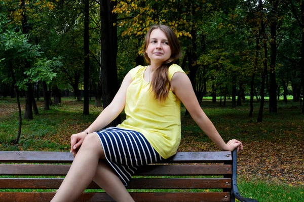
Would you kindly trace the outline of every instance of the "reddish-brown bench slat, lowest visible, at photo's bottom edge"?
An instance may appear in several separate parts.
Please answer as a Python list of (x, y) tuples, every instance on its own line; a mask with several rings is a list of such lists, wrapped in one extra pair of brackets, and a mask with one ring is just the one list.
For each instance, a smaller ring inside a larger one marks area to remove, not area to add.
[[(0, 192), (0, 198), (5, 202), (46, 202), (50, 201), (55, 193), (29, 192)], [(131, 192), (131, 196), (138, 202), (219, 202), (230, 201), (229, 192)], [(77, 202), (115, 201), (106, 193), (83, 193)]]

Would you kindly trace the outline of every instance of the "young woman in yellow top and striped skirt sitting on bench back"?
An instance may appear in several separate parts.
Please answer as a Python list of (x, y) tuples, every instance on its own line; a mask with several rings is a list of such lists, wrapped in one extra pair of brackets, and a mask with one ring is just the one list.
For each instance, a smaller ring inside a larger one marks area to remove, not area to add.
[[(75, 158), (53, 202), (76, 200), (92, 180), (116, 201), (134, 201), (125, 186), (137, 168), (177, 151), (180, 102), (221, 150), (243, 149), (238, 140), (225, 143), (203, 112), (188, 76), (174, 64), (180, 55), (177, 36), (168, 26), (149, 29), (144, 56), (150, 65), (131, 69), (111, 104), (89, 128), (71, 136)], [(122, 124), (100, 131), (123, 109), (127, 117)]]

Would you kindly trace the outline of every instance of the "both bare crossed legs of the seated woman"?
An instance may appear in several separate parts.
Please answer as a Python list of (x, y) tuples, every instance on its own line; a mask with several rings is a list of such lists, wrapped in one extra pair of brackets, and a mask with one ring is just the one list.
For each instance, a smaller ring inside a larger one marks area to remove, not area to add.
[(71, 168), (52, 202), (75, 201), (93, 178), (113, 199), (133, 202), (134, 200), (119, 177), (105, 161), (99, 159), (105, 159), (100, 140), (96, 134), (89, 134), (75, 156)]

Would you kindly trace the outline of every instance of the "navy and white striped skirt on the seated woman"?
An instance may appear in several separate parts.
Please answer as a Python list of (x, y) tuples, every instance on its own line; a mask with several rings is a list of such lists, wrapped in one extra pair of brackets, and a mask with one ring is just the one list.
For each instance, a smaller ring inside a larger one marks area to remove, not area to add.
[(139, 132), (110, 127), (96, 133), (106, 160), (125, 186), (139, 166), (154, 164), (163, 159)]

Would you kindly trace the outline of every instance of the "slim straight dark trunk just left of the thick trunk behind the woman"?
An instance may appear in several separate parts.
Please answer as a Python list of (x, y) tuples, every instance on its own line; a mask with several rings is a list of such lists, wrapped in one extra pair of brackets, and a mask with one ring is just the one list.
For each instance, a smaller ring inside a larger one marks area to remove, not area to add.
[(85, 33), (84, 33), (84, 114), (89, 114), (89, 77), (90, 77), (90, 44), (89, 44), (89, 0), (85, 0)]

